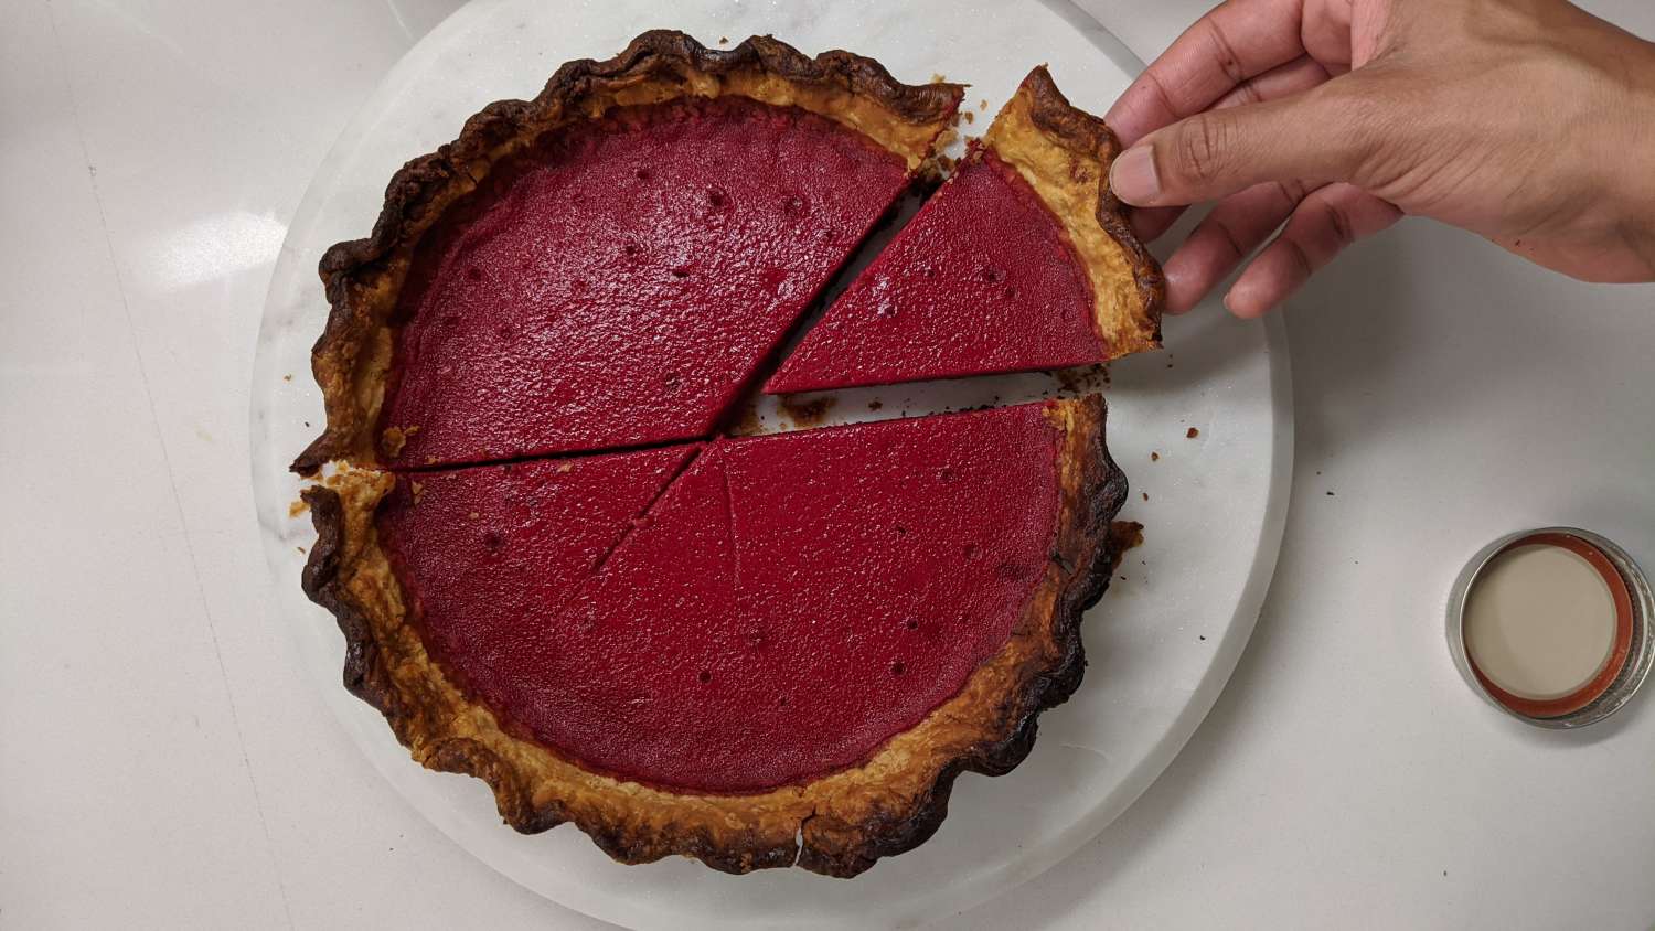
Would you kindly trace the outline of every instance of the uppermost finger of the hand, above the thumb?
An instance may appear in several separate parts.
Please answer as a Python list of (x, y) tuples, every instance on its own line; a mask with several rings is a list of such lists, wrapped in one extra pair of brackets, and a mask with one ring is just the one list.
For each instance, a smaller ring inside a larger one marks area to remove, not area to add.
[(1228, 0), (1139, 74), (1104, 116), (1124, 146), (1200, 112), (1241, 81), (1304, 55), (1301, 0)]

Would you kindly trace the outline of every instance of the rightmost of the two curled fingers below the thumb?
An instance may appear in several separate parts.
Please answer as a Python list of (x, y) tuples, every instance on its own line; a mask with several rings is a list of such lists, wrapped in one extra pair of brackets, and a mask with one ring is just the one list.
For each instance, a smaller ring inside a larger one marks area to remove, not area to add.
[(1238, 317), (1261, 316), (1346, 246), (1400, 218), (1402, 210), (1359, 187), (1322, 187), (1299, 203), (1281, 235), (1248, 265), (1225, 294), (1225, 306)]

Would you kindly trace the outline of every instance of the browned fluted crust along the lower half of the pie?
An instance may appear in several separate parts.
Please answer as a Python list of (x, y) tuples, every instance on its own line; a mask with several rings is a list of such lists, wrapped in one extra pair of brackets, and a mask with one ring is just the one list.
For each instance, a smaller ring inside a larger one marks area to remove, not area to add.
[(374, 513), (394, 478), (344, 470), (305, 491), (318, 542), (306, 594), (346, 638), (344, 685), (377, 708), (415, 761), (488, 782), (501, 817), (531, 833), (574, 822), (624, 863), (687, 855), (730, 873), (798, 865), (854, 876), (923, 843), (960, 772), (998, 776), (1028, 756), (1036, 719), (1086, 666), (1081, 615), (1109, 584), (1125, 476), (1104, 446), (1097, 395), (1054, 400), (1059, 518), (1051, 559), (1008, 643), (955, 698), (864, 764), (750, 795), (664, 790), (579, 767), (503, 731), (425, 653), (377, 544)]

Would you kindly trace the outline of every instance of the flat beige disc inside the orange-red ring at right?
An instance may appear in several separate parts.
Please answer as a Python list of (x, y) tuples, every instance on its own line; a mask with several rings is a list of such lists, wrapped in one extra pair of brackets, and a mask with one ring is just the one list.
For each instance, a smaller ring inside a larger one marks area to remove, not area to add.
[(1584, 556), (1551, 544), (1508, 549), (1466, 595), (1465, 648), (1494, 685), (1549, 701), (1597, 676), (1615, 645), (1615, 599)]

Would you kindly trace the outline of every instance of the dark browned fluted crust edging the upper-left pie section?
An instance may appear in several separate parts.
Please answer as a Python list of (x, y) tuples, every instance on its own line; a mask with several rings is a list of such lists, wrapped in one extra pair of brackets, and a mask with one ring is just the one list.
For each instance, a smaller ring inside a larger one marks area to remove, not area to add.
[(405, 164), (386, 189), (366, 240), (338, 243), (321, 258), (331, 308), (311, 369), (328, 427), (293, 470), (314, 475), (329, 460), (379, 461), (376, 425), (391, 369), (391, 314), (420, 236), (501, 159), (548, 132), (609, 107), (675, 98), (745, 96), (798, 106), (861, 131), (902, 155), (910, 170), (953, 119), (965, 88), (904, 84), (871, 58), (824, 51), (809, 58), (770, 36), (710, 50), (680, 31), (647, 31), (606, 61), (569, 61), (531, 101), (498, 101), (465, 121), (460, 137)]

